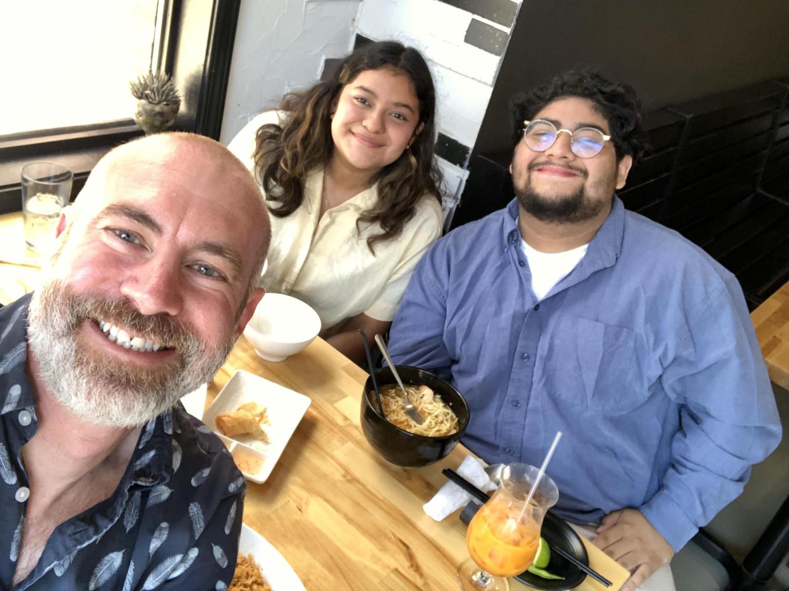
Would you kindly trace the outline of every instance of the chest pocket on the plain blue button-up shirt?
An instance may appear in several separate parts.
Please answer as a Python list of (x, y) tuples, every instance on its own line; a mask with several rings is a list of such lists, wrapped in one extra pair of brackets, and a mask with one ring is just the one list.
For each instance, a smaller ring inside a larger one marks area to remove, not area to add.
[(625, 414), (649, 397), (635, 346), (631, 329), (564, 314), (540, 339), (535, 389), (582, 411)]

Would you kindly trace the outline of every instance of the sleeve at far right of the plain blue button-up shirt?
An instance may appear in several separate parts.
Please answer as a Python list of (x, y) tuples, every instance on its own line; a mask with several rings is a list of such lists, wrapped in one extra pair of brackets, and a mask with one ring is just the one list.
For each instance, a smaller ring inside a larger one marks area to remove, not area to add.
[(680, 405), (671, 465), (641, 512), (679, 551), (742, 492), (781, 439), (780, 418), (742, 291), (731, 278), (684, 314), (684, 343), (661, 377)]

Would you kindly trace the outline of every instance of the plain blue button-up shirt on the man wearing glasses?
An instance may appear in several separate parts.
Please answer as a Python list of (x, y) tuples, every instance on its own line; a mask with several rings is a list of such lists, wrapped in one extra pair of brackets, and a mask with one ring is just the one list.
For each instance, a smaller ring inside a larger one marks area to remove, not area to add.
[(424, 256), (392, 359), (466, 396), (463, 443), (488, 462), (539, 466), (563, 431), (565, 519), (639, 507), (679, 550), (781, 436), (739, 284), (615, 198), (578, 266), (539, 302), (530, 286), (513, 201)]

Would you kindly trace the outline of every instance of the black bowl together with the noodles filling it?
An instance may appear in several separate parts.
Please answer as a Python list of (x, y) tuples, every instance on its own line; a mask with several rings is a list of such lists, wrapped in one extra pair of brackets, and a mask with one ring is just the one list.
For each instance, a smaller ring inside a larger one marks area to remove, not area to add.
[[(409, 397), (424, 418), (427, 419), (428, 414), (432, 414), (423, 412), (420, 407), (421, 400), (427, 401), (429, 399), (428, 392), (422, 388), (426, 386), (432, 392), (433, 402), (436, 403), (431, 406), (434, 408), (443, 407), (442, 416), (445, 416), (449, 421), (454, 416), (457, 424), (451, 426), (451, 429), (446, 429), (448, 432), (446, 435), (438, 434), (443, 433), (444, 429), (434, 432), (433, 435), (424, 434), (429, 433), (429, 429), (432, 429), (432, 422), (428, 420), (422, 425), (422, 427), (428, 427), (428, 431), (424, 433), (414, 433), (409, 430), (409, 425), (405, 422), (397, 424), (399, 411), (387, 411), (387, 406), (390, 403), (398, 404), (400, 411), (405, 412), (402, 391), (394, 380), (391, 369), (382, 367), (376, 370), (376, 381), (379, 392), (382, 394), (383, 411), (386, 418), (383, 418), (378, 410), (376, 393), (372, 388), (372, 378), (368, 378), (361, 396), (361, 430), (372, 448), (387, 462), (397, 466), (427, 466), (446, 457), (458, 444), (463, 433), (466, 433), (466, 426), (469, 424), (469, 407), (460, 392), (442, 377), (418, 367), (397, 366), (397, 370), (402, 377), (403, 385), (406, 388), (413, 388)], [(390, 394), (387, 392), (394, 394), (391, 397), (391, 402), (387, 400), (390, 398)], [(417, 396), (420, 400), (417, 400)], [(441, 407), (437, 405), (439, 400)], [(443, 426), (443, 419), (439, 419), (437, 422)]]

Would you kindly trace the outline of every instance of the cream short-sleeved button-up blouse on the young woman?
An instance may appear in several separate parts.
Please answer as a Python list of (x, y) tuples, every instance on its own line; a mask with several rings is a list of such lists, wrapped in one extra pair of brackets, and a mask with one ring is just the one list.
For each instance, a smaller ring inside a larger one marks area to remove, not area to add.
[[(252, 173), (256, 173), (252, 154), (258, 128), (285, 117), (282, 111), (261, 113), (228, 145)], [(322, 188), (323, 169), (317, 169), (307, 177), (301, 206), (287, 217), (270, 216), (271, 247), (264, 288), (312, 306), (320, 316), (322, 336), (331, 336), (340, 322), (361, 312), (391, 321), (414, 267), (441, 236), (440, 203), (425, 195), (400, 236), (376, 243), (373, 255), (367, 239), (383, 230), (376, 223), (362, 225), (357, 232), (356, 221), (376, 203), (378, 185), (331, 208), (319, 219)]]

